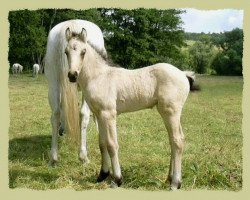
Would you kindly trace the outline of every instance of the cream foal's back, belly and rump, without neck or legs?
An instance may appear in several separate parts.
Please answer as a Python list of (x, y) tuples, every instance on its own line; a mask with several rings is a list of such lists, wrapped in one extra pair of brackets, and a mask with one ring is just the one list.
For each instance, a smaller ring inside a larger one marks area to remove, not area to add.
[(174, 101), (183, 97), (185, 101), (189, 92), (185, 74), (166, 63), (136, 70), (115, 68), (109, 74), (110, 83), (116, 83), (113, 85), (118, 113), (151, 108), (159, 100)]

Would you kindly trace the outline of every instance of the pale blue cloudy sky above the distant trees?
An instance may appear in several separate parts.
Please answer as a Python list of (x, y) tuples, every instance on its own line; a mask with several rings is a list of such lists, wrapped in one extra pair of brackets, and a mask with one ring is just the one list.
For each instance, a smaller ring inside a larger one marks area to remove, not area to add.
[(243, 10), (197, 10), (188, 8), (181, 14), (185, 32), (220, 33), (243, 28)]

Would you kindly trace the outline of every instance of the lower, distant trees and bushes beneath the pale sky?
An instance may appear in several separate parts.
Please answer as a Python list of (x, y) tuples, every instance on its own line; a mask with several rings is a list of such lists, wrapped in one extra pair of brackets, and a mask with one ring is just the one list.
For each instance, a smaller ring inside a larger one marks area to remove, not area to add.
[(194, 41), (184, 50), (186, 65), (198, 73), (242, 75), (243, 30), (235, 28), (223, 33), (185, 33)]

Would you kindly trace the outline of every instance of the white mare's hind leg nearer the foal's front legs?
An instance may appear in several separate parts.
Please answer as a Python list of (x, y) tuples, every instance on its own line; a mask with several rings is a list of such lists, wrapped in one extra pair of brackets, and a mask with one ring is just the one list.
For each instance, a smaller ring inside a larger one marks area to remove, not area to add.
[(89, 163), (89, 159), (87, 157), (87, 127), (89, 124), (90, 118), (90, 109), (86, 101), (84, 101), (84, 97), (82, 97), (83, 105), (81, 108), (81, 146), (79, 159), (83, 163)]

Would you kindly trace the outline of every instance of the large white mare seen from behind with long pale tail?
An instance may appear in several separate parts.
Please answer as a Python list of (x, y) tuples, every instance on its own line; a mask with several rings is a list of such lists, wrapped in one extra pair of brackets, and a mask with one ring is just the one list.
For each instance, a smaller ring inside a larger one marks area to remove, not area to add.
[[(103, 34), (100, 28), (92, 22), (85, 20), (69, 20), (62, 22), (51, 29), (45, 58), (45, 75), (49, 85), (49, 104), (52, 110), (52, 144), (51, 164), (58, 161), (58, 133), (64, 129), (69, 135), (79, 137), (81, 135), (79, 158), (88, 163), (86, 147), (86, 130), (89, 123), (90, 110), (82, 95), (81, 121), (77, 101), (77, 85), (69, 83), (68, 62), (65, 55), (67, 40), (65, 30), (70, 27), (74, 33), (80, 33), (85, 28), (89, 36), (86, 39), (103, 57), (107, 56), (104, 47)], [(64, 114), (65, 113), (65, 114)]]

